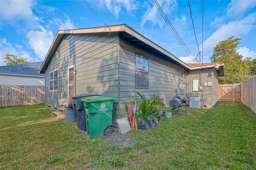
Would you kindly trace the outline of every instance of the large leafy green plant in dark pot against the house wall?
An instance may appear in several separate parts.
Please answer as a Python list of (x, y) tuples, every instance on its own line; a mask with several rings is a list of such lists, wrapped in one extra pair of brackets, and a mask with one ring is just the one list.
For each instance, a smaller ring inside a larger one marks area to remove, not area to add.
[(138, 129), (151, 129), (152, 121), (157, 120), (157, 116), (153, 113), (154, 109), (159, 105), (157, 97), (152, 97), (149, 101), (137, 91), (137, 95), (141, 98), (141, 103), (137, 103), (139, 106), (136, 112), (137, 128)]

